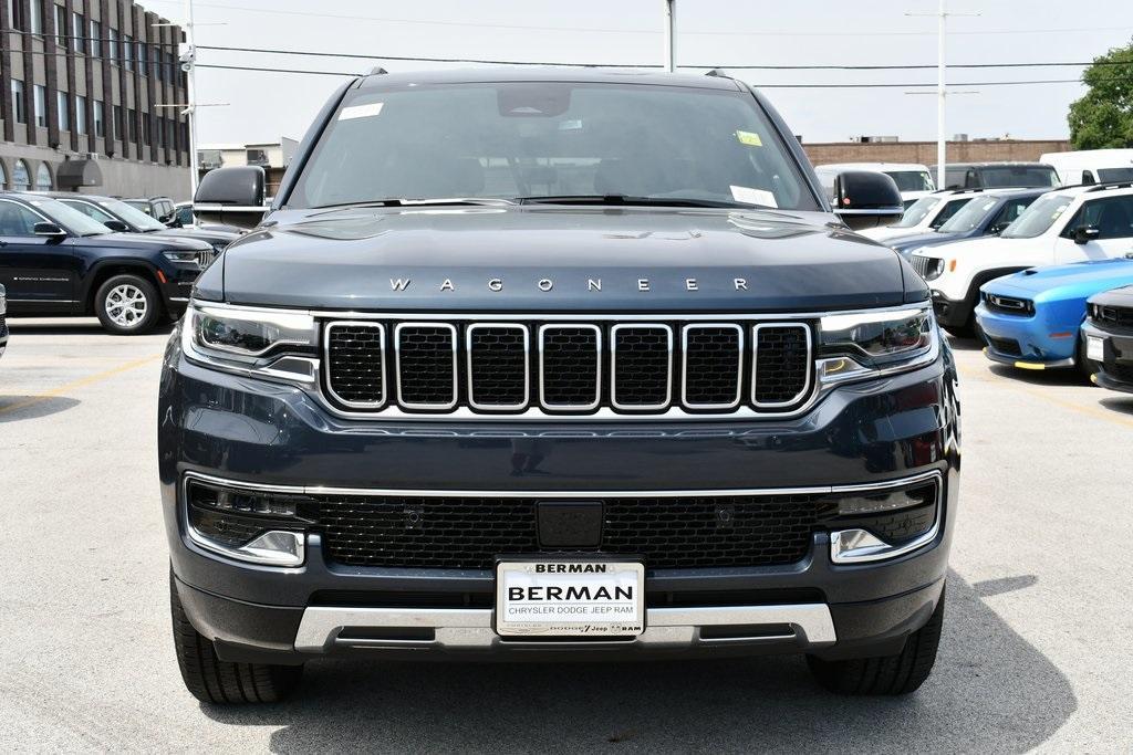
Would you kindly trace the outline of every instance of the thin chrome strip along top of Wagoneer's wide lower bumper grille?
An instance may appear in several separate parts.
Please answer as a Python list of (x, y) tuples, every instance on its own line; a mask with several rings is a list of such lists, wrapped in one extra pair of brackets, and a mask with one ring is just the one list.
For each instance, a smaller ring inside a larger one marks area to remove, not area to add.
[[(455, 489), (416, 489), (416, 488), (338, 488), (334, 486), (293, 486), (293, 484), (271, 484), (264, 482), (246, 482), (229, 478), (206, 474), (204, 472), (187, 471), (186, 480), (195, 479), (212, 484), (228, 486), (230, 488), (244, 488), (258, 492), (283, 492), (305, 496), (403, 496), (419, 498), (726, 498), (729, 496), (802, 496), (802, 495), (836, 495), (843, 492), (868, 492), (871, 490), (892, 490), (903, 488), (919, 482), (927, 482), (937, 479), (942, 482), (943, 490), (944, 475), (939, 469), (919, 472), (893, 480), (878, 480), (877, 482), (858, 482), (853, 484), (826, 484), (804, 486), (796, 488), (705, 488), (705, 489), (681, 489), (681, 490), (455, 490)], [(943, 494), (938, 494), (943, 496)], [(942, 498), (943, 500), (943, 498)]]

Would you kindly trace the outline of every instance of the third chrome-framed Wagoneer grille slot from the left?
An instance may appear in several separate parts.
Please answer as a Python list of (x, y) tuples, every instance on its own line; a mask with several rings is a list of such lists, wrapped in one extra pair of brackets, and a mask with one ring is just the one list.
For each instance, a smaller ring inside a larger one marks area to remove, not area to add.
[(469, 325), (468, 404), (474, 409), (519, 410), (530, 393), (527, 326)]

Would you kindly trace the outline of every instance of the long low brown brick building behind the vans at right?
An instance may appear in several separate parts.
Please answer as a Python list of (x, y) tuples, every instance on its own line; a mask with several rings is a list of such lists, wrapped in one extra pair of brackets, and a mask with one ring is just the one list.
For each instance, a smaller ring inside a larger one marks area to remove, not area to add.
[[(936, 141), (836, 141), (803, 144), (815, 165), (827, 163), (936, 163)], [(976, 139), (949, 141), (949, 163), (1034, 162), (1048, 152), (1066, 152), (1064, 139)]]

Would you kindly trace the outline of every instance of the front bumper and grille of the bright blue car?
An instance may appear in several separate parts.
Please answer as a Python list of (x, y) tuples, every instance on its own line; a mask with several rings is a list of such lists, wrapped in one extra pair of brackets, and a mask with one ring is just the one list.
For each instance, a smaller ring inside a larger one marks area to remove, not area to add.
[(1019, 369), (1042, 370), (1077, 363), (1077, 323), (1053, 323), (1046, 312), (1004, 315), (976, 307), (976, 323), (987, 344), (983, 354), (994, 362)]

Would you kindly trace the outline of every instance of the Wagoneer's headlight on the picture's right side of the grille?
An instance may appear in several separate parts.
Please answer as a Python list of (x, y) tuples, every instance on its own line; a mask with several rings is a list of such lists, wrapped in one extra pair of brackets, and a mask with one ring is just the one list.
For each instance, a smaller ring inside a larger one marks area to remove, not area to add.
[(908, 309), (828, 315), (819, 326), (823, 377), (845, 379), (877, 370), (912, 369), (939, 349), (931, 304)]

